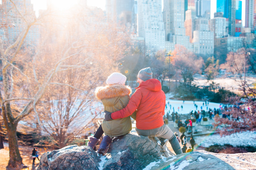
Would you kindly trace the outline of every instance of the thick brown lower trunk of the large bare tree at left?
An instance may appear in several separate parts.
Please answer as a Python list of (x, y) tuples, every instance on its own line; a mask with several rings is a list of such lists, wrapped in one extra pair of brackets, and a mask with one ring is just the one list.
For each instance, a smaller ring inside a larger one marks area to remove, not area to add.
[(22, 158), (20, 156), (20, 151), (18, 147), (18, 137), (16, 135), (17, 125), (11, 125), (8, 131), (8, 141), (9, 141), (9, 155), (10, 159), (8, 162), (7, 169), (17, 169), (20, 170), (20, 165), (22, 164)]

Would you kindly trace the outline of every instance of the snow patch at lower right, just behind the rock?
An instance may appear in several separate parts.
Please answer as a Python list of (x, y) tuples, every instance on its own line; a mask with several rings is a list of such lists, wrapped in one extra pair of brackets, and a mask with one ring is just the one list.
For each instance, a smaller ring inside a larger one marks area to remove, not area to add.
[(254, 146), (256, 147), (256, 132), (240, 132), (229, 136), (220, 137), (220, 135), (198, 136), (194, 137), (198, 146), (209, 147), (211, 145), (225, 145), (232, 146)]

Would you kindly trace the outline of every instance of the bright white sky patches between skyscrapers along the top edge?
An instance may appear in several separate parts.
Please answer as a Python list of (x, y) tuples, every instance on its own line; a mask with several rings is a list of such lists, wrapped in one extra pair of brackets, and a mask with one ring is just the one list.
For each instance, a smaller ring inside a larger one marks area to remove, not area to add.
[[(60, 7), (70, 7), (70, 2), (75, 3), (77, 0), (52, 0), (56, 5)], [(87, 0), (87, 4), (89, 6), (99, 7), (105, 10), (105, 2), (106, 0)], [(38, 9), (46, 9), (46, 0), (31, 0), (31, 3), (34, 4), (34, 10), (37, 12)], [(216, 12), (216, 0), (211, 0), (211, 18), (214, 17), (214, 13)], [(243, 26), (245, 25), (245, 0), (242, 0), (242, 21)]]

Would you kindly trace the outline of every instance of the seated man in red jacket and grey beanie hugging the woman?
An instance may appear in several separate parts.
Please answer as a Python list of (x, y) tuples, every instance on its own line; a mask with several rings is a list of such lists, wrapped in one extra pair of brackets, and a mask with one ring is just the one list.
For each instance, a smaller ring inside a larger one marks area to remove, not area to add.
[(164, 124), (165, 94), (159, 80), (152, 78), (150, 67), (138, 74), (139, 86), (128, 105), (114, 113), (105, 111), (105, 120), (120, 119), (132, 115), (136, 110), (138, 135), (168, 139), (176, 155), (181, 154), (180, 144), (172, 130)]

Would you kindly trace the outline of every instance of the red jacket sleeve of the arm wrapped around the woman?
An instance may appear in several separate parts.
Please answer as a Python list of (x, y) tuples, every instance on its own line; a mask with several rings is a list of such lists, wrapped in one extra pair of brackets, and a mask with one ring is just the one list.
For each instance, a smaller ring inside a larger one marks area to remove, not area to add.
[(135, 110), (139, 107), (139, 104), (141, 102), (141, 97), (142, 97), (141, 90), (138, 88), (130, 98), (125, 108), (123, 108), (122, 110), (113, 112), (111, 114), (112, 119), (120, 119), (120, 118), (124, 118), (132, 115), (132, 113), (134, 113)]

